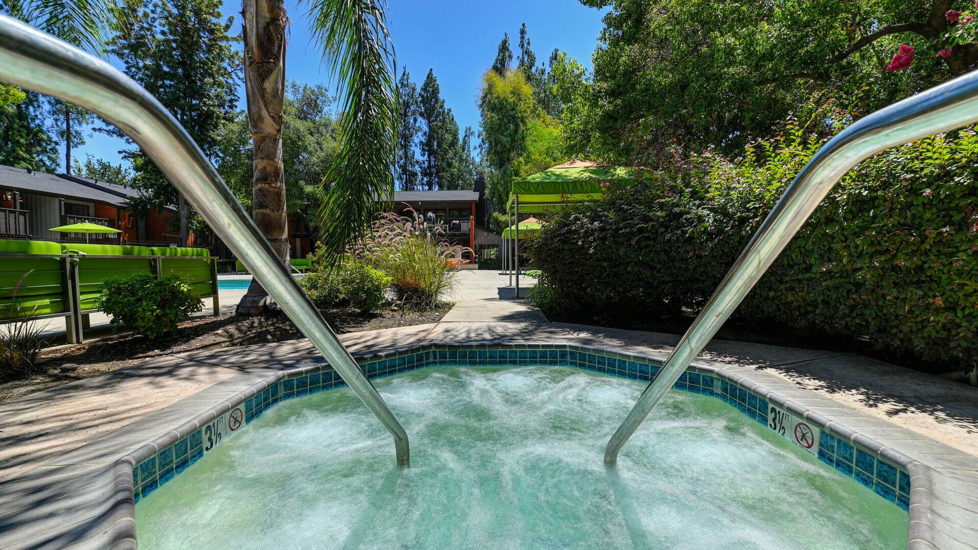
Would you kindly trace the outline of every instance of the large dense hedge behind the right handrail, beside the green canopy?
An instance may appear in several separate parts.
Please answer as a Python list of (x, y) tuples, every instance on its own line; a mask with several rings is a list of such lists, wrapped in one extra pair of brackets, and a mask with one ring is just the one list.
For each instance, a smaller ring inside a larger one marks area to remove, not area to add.
[[(739, 159), (686, 156), (640, 185), (556, 215), (531, 241), (549, 307), (596, 316), (697, 310), (821, 144), (792, 121)], [(865, 160), (736, 314), (867, 338), (949, 368), (973, 365), (976, 176), (974, 129)]]

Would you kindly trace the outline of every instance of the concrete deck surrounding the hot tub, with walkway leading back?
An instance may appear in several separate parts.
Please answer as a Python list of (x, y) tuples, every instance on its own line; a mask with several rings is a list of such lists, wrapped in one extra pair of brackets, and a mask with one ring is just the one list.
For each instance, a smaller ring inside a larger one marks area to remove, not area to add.
[[(506, 282), (495, 272), (461, 272), (456, 306), (440, 323), (341, 340), (355, 355), (512, 343), (585, 344), (657, 359), (678, 341), (551, 323), (522, 300), (501, 298), (511, 296)], [(269, 376), (320, 362), (304, 340), (225, 348), (0, 403), (0, 548), (134, 547), (126, 534), (134, 532), (131, 484), (124, 484), (131, 466), (117, 461), (149, 441), (168, 444), (178, 427), (213, 418), (216, 407), (260, 390)], [(910, 457), (908, 547), (978, 548), (978, 390), (858, 355), (774, 345), (715, 341), (694, 364), (844, 427), (880, 455)]]

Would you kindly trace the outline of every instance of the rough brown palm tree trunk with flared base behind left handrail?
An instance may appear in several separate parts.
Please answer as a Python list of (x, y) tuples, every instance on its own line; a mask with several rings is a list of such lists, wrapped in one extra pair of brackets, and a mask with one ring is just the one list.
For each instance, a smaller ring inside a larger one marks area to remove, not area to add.
[[(244, 91), (253, 145), (251, 218), (289, 263), (282, 111), (286, 97), (286, 15), (283, 0), (244, 0)], [(238, 304), (239, 315), (277, 310), (254, 279)]]

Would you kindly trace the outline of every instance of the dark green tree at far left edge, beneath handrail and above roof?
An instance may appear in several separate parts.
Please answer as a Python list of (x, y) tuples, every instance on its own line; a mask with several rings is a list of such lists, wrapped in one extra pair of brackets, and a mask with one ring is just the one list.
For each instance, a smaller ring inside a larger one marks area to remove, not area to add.
[(58, 171), (58, 145), (45, 126), (40, 94), (26, 92), (20, 103), (0, 105), (0, 164)]

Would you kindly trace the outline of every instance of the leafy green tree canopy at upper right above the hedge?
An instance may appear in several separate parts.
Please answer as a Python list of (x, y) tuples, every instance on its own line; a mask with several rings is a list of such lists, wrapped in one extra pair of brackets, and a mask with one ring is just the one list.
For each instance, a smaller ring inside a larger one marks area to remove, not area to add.
[[(674, 138), (733, 151), (817, 94), (865, 114), (978, 62), (978, 24), (948, 15), (971, 5), (951, 0), (582, 3), (610, 11), (571, 141), (618, 162)], [(901, 44), (916, 61), (887, 71)]]

